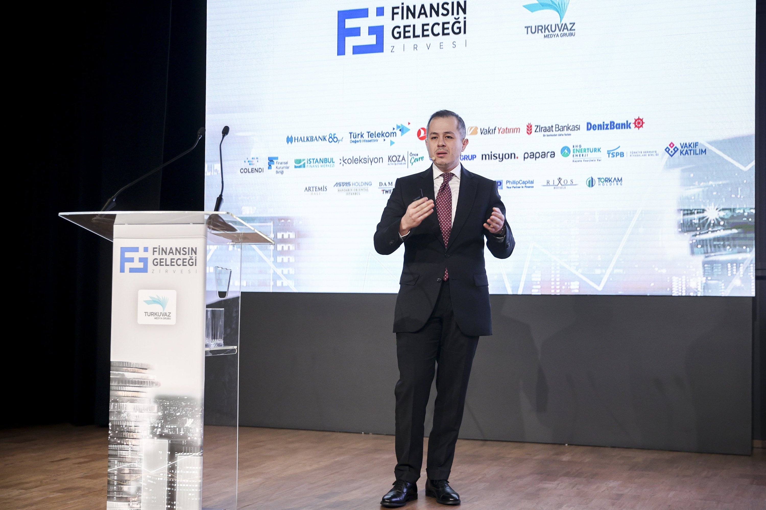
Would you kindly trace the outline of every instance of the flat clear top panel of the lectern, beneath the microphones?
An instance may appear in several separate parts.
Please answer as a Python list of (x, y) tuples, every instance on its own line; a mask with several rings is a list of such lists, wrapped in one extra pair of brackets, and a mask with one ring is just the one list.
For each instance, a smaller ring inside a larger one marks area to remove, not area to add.
[(109, 211), (59, 213), (59, 216), (110, 241), (114, 239), (115, 225), (206, 224), (208, 244), (274, 244), (269, 236), (224, 211)]

